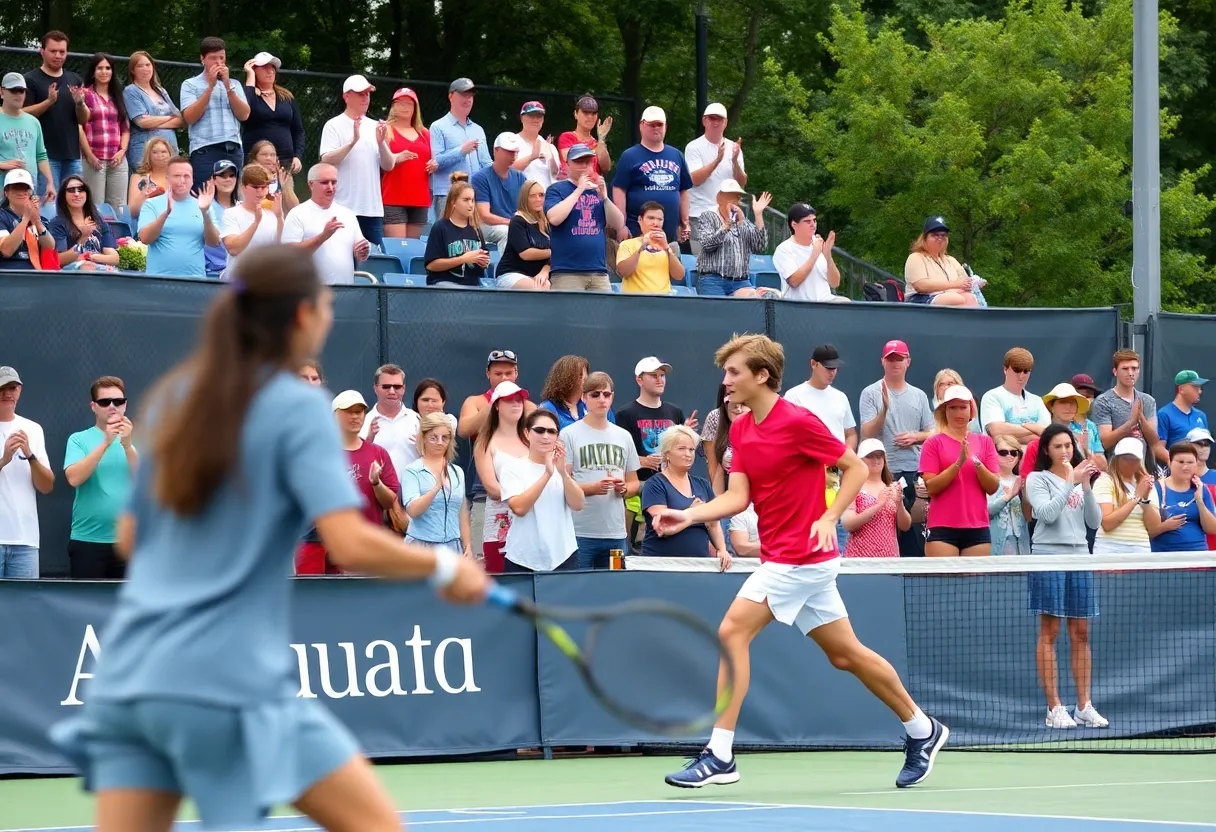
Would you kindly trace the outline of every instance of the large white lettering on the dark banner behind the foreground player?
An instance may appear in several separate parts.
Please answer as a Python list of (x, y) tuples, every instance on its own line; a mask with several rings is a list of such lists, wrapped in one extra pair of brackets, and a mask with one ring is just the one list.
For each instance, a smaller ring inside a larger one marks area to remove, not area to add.
[[(330, 645), (319, 642), (313, 645), (289, 645), (289, 647), (295, 651), (295, 663), (299, 668), (300, 688), (295, 695), (304, 699), (316, 699), (317, 693), (313, 690), (313, 673), (309, 667), (309, 647), (316, 653), (317, 660), (317, 675), (321, 685), (321, 693), (330, 699), (342, 699), (345, 697), (355, 696), (367, 696), (367, 693), (373, 697), (385, 697), (385, 696), (406, 696), (407, 693), (415, 695), (427, 695), (434, 693), (434, 691), (427, 687), (427, 656), (424, 652), (426, 647), (430, 647), (432, 641), (429, 639), (422, 637), (422, 626), (418, 624), (413, 625), (413, 633), (410, 635), (409, 641), (404, 645), (410, 648), (413, 654), (413, 690), (406, 691), (406, 687), (401, 684), (401, 663), (400, 654), (392, 641), (377, 640), (372, 641), (364, 648), (364, 656), (368, 659), (377, 659), (383, 657), (384, 660), (371, 665), (365, 674), (362, 674), (364, 690), (359, 687), (359, 662), (358, 662), (358, 648), (351, 641), (339, 641), (336, 647), (338, 647), (345, 656), (345, 674), (347, 684), (342, 690), (337, 690), (333, 685), (333, 678), (330, 671)], [(447, 676), (447, 652), (449, 648), (455, 647), (460, 650), (460, 663), (462, 669), (462, 678), (458, 684), (452, 684), (452, 680)], [(80, 699), (80, 682), (88, 679), (92, 679), (94, 674), (91, 670), (85, 670), (85, 660), (89, 659), (91, 663), (96, 663), (97, 658), (101, 656), (101, 643), (97, 641), (97, 633), (94, 630), (92, 624), (85, 625), (84, 639), (80, 642), (80, 652), (77, 656), (75, 673), (72, 675), (72, 687), (68, 690), (67, 698), (60, 702), (61, 705), (81, 705), (84, 702)], [(91, 664), (90, 664), (91, 667)], [(473, 640), (472, 639), (444, 639), (435, 647), (434, 654), (430, 657), (430, 673), (434, 674), (435, 681), (444, 693), (480, 693), (482, 688), (477, 686), (477, 680), (473, 676)], [(387, 674), (387, 676), (384, 675)]]

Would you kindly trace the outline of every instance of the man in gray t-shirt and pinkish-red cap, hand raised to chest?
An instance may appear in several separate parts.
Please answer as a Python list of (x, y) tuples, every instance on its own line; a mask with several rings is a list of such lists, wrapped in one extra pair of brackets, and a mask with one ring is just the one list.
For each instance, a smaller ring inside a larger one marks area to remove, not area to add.
[[(906, 381), (912, 356), (902, 341), (888, 341), (883, 347), (883, 377), (861, 392), (858, 414), (861, 438), (878, 438), (886, 449), (886, 467), (891, 477), (903, 480), (903, 504), (916, 500), (916, 479), (921, 474), (921, 445), (933, 432), (929, 397)], [(900, 555), (924, 553), (924, 527), (913, 524), (899, 533)]]

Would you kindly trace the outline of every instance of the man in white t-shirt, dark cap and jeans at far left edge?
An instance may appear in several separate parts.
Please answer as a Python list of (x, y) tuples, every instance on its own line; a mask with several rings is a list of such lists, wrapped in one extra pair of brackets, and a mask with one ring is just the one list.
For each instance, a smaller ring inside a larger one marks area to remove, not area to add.
[(17, 415), (21, 376), (0, 367), (0, 578), (38, 578), (38, 497), (55, 473), (43, 427)]

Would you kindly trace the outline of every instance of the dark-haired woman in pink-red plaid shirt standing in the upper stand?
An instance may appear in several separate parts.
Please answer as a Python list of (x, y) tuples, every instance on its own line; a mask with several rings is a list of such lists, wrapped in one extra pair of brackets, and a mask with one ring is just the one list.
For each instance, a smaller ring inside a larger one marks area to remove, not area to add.
[(81, 124), (80, 154), (84, 180), (94, 202), (117, 212), (126, 204), (126, 145), (131, 139), (123, 88), (114, 78), (114, 62), (97, 54), (84, 71), (84, 102), (89, 120)]

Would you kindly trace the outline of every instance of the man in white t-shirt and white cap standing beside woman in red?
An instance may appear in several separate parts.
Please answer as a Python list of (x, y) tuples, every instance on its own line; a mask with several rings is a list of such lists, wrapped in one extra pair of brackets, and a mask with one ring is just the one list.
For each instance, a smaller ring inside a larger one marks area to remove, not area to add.
[(364, 237), (384, 244), (384, 202), (381, 198), (381, 172), (392, 170), (393, 151), (388, 148), (388, 125), (367, 118), (367, 106), (376, 90), (362, 75), (351, 75), (342, 84), (347, 108), (325, 123), (321, 130), (321, 161), (338, 169), (337, 199), (359, 218)]

